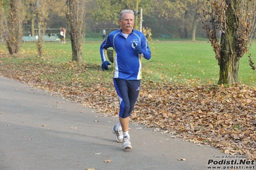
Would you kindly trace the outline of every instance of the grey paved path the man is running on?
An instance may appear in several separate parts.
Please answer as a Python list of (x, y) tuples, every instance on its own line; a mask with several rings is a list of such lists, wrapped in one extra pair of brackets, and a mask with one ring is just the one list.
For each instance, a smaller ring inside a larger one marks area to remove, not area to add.
[(224, 155), (141, 125), (130, 125), (133, 149), (122, 150), (110, 130), (115, 123), (95, 109), (0, 76), (1, 170), (200, 170)]

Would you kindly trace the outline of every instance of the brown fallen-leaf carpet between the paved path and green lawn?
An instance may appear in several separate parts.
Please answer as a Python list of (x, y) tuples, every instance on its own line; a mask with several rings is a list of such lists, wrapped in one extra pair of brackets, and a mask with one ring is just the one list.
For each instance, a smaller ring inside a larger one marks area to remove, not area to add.
[[(118, 115), (119, 100), (112, 73), (102, 72), (99, 65), (51, 65), (40, 60), (15, 64), (15, 59), (1, 59), (0, 56), (0, 75), (4, 77), (98, 109), (105, 116)], [(142, 80), (132, 121), (192, 143), (214, 146), (226, 154), (248, 155), (256, 160), (254, 87)]]

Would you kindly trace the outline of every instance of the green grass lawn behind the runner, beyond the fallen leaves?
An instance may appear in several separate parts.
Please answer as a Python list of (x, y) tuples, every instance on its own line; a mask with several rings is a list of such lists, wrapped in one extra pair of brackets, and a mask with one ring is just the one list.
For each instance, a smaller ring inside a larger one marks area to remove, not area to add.
[[(101, 58), (99, 55), (101, 40), (86, 40), (83, 44), (83, 61), (87, 64), (98, 65), (100, 68)], [(214, 51), (207, 41), (175, 41), (165, 42), (153, 40), (149, 43), (152, 58), (144, 59), (144, 80), (154, 82), (185, 83), (198, 82), (202, 84), (217, 84), (219, 79), (219, 66), (215, 59)], [(35, 43), (23, 43), (21, 53), (24, 56), (36, 57), (37, 48)], [(256, 61), (255, 43), (250, 49), (252, 58)], [(4, 44), (0, 44), (0, 54), (8, 54)], [(53, 65), (71, 61), (71, 43), (44, 43), (44, 61)], [(16, 61), (18, 62), (18, 61)], [(110, 73), (111, 76), (111, 73)], [(252, 86), (256, 80), (255, 71), (248, 63), (248, 54), (244, 55), (239, 65), (239, 80), (242, 84)]]

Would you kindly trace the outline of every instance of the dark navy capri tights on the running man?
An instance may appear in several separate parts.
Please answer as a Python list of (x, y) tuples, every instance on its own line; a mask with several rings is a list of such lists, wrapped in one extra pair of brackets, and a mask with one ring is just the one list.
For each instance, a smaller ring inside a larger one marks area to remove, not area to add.
[(119, 117), (127, 118), (131, 116), (135, 102), (139, 97), (141, 80), (113, 79), (113, 81), (120, 102)]

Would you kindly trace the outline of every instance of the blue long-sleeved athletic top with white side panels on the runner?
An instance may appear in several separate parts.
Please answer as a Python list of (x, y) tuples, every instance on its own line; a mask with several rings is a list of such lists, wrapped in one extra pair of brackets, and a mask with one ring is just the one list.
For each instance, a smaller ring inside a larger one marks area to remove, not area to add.
[[(135, 53), (133, 43), (141, 45), (143, 49), (142, 54), (138, 55)], [(143, 33), (133, 29), (132, 33), (125, 38), (121, 29), (112, 31), (100, 46), (102, 62), (108, 59), (107, 49), (109, 47), (114, 49), (114, 78), (140, 80), (141, 57), (151, 58), (151, 51)]]

